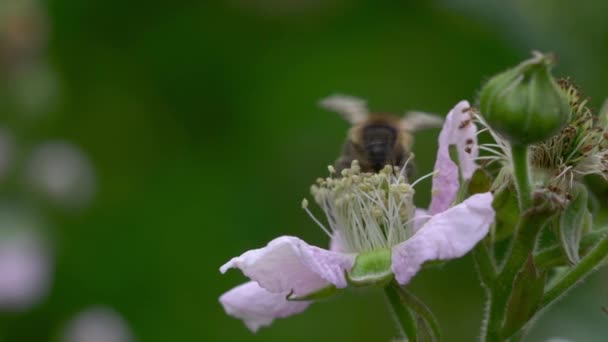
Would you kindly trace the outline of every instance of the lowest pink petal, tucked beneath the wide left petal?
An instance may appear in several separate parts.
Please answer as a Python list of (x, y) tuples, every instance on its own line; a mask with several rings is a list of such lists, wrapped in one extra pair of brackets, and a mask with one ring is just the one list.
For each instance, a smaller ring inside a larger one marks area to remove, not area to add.
[(284, 318), (300, 313), (310, 302), (288, 301), (288, 293), (268, 292), (255, 281), (247, 282), (224, 293), (220, 303), (230, 316), (243, 320), (256, 332), (270, 325), (275, 318)]

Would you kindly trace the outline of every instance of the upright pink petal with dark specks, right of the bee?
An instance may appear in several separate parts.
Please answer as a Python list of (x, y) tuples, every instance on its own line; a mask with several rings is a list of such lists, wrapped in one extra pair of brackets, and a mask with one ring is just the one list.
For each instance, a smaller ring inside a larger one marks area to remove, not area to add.
[(433, 176), (433, 198), (429, 211), (440, 213), (450, 207), (459, 188), (458, 166), (450, 157), (450, 145), (456, 145), (463, 179), (470, 179), (477, 164), (477, 128), (471, 120), (467, 101), (460, 101), (447, 115), (441, 133)]

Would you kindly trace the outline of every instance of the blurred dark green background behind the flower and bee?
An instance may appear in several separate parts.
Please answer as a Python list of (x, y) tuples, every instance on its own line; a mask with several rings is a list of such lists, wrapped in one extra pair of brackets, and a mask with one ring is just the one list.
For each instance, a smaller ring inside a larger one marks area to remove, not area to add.
[[(285, 234), (327, 244), (300, 201), (348, 126), (318, 99), (341, 92), (378, 111), (443, 115), (533, 49), (557, 53), (556, 74), (574, 78), (594, 106), (608, 94), (603, 0), (49, 0), (40, 8), (49, 34), (36, 58), (55, 85), (0, 75), (0, 125), (18, 146), (0, 195), (44, 218), (54, 275), (39, 303), (0, 313), (3, 342), (61, 341), (74, 315), (98, 305), (144, 342), (388, 341), (396, 330), (381, 291), (316, 303), (257, 334), (218, 303), (245, 280), (220, 275), (231, 257)], [(28, 96), (28, 106), (15, 100)], [(432, 169), (437, 133), (417, 136), (419, 174)], [(86, 207), (59, 208), (23, 185), (19, 163), (56, 139), (78, 146), (95, 170)], [(419, 185), (418, 205), (429, 189)], [(528, 340), (605, 341), (607, 281), (596, 273)], [(446, 341), (477, 338), (484, 293), (470, 257), (424, 271), (411, 287)]]

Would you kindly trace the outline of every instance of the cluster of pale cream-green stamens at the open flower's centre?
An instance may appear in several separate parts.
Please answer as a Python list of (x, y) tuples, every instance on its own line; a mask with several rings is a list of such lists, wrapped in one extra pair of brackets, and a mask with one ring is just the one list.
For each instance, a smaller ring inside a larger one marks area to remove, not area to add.
[[(332, 167), (330, 172), (334, 173)], [(344, 252), (371, 252), (390, 248), (413, 234), (414, 189), (406, 183), (405, 166), (386, 166), (378, 173), (362, 173), (353, 161), (341, 177), (318, 179), (311, 187), (315, 202), (327, 216), (325, 228), (303, 208)]]

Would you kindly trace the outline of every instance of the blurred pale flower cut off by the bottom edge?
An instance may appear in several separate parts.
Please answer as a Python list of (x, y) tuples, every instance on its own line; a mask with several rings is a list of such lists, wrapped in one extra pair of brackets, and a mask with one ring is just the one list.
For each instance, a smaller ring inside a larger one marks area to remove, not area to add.
[(67, 325), (63, 342), (131, 342), (127, 322), (111, 308), (93, 307), (80, 312)]

